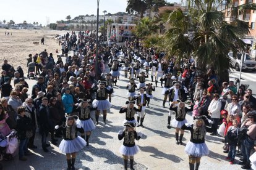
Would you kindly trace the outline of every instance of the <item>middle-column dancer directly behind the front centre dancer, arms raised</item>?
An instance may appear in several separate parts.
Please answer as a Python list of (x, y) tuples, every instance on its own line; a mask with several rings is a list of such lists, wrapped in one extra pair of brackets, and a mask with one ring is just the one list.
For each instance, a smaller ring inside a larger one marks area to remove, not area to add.
[(142, 107), (140, 107), (140, 109), (135, 108), (134, 104), (135, 100), (127, 101), (127, 107), (121, 107), (119, 113), (126, 113), (126, 119), (124, 119), (124, 123), (134, 123), (136, 126), (138, 126), (139, 123), (135, 120), (134, 116), (137, 111), (142, 111)]

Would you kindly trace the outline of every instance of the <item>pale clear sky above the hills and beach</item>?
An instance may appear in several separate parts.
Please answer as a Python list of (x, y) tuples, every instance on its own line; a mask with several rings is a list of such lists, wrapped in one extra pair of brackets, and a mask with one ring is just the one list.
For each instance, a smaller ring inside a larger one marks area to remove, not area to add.
[[(111, 14), (126, 12), (126, 6), (127, 0), (100, 0), (99, 14), (103, 15), (103, 10)], [(97, 0), (1, 0), (0, 21), (23, 23), (25, 20), (27, 23), (46, 25), (46, 18), (50, 23), (55, 23), (57, 20), (66, 20), (67, 15), (74, 18), (96, 13)]]

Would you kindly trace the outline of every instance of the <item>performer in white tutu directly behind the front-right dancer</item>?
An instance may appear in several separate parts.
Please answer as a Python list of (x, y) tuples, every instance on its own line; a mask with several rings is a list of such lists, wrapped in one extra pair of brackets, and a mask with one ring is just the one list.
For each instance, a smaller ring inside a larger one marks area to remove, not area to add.
[[(177, 106), (175, 105), (177, 103)], [(187, 111), (192, 111), (192, 109), (188, 109), (185, 107), (185, 103), (181, 102), (181, 100), (177, 100), (176, 102), (172, 102), (169, 110), (175, 111), (175, 118), (171, 121), (171, 116), (168, 116), (168, 128), (171, 125), (176, 128), (175, 136), (176, 136), (176, 144), (182, 145), (182, 137), (184, 135), (184, 130), (181, 127), (187, 123), (186, 114)], [(181, 135), (179, 136), (179, 131), (181, 131)]]

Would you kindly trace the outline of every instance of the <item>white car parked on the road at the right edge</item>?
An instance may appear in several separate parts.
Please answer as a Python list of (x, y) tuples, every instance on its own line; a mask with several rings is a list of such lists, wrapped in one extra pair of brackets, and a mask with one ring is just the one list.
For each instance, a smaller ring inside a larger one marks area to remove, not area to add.
[[(236, 71), (240, 71), (242, 53), (237, 53), (237, 55), (234, 56), (233, 52), (229, 52), (228, 56), (229, 56), (229, 59), (231, 59), (233, 68), (235, 68)], [(242, 70), (250, 70), (250, 71), (256, 70), (256, 61), (253, 60), (250, 57), (250, 55), (247, 53), (245, 53), (245, 56), (246, 56), (245, 60), (242, 63)]]

